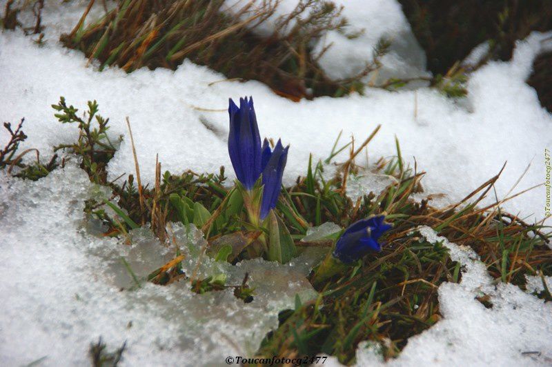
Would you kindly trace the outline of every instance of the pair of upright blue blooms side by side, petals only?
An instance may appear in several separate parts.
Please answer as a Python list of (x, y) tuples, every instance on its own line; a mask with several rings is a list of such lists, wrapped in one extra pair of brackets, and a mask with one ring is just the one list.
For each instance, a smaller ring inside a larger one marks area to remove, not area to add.
[(263, 192), (259, 210), (262, 220), (277, 204), (289, 146), (284, 148), (282, 141), (278, 140), (272, 150), (267, 139), (264, 139), (261, 146), (252, 97), (240, 98), (239, 107), (230, 99), (228, 115), (228, 153), (237, 179), (250, 191), (259, 177), (262, 177)]

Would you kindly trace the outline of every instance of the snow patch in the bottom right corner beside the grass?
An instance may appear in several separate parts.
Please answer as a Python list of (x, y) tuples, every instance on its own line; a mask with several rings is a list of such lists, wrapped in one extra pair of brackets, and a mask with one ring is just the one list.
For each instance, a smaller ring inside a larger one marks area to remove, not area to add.
[[(552, 364), (552, 304), (513, 284), (495, 284), (471, 248), (457, 246), (429, 227), (428, 241), (441, 241), (462, 264), (460, 284), (439, 287), (443, 319), (408, 339), (391, 366), (542, 366)], [(489, 295), (491, 308), (475, 297)], [(377, 362), (377, 363), (375, 363)], [(359, 346), (358, 366), (383, 364), (373, 348)]]

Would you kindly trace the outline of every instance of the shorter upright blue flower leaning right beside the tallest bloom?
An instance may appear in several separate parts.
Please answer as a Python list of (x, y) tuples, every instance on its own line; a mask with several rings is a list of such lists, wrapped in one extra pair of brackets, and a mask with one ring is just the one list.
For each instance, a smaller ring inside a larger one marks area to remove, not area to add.
[(282, 146), (282, 141), (278, 139), (274, 150), (270, 150), (268, 140), (264, 139), (261, 167), (262, 167), (262, 182), (263, 198), (261, 204), (261, 219), (266, 218), (270, 210), (276, 207), (280, 186), (282, 186), (282, 175), (288, 161), (289, 146)]

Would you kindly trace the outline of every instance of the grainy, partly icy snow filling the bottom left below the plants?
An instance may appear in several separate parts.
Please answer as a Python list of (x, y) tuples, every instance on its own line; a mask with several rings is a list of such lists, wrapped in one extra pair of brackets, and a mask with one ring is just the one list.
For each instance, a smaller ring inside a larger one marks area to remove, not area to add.
[[(132, 279), (121, 258), (144, 278), (175, 251), (147, 228), (130, 233), (130, 246), (88, 234), (84, 200), (101, 192), (74, 163), (36, 182), (0, 172), (0, 272), (9, 275), (0, 280), (1, 366), (42, 357), (41, 366), (86, 365), (100, 335), (110, 350), (127, 341), (125, 366), (219, 365), (228, 355), (253, 355), (296, 294), (302, 301), (317, 295), (305, 277), (320, 258), (315, 249), (285, 266), (260, 259), (231, 266), (205, 257), (200, 279), (226, 274), (226, 284), (239, 285), (249, 273), (250, 304), (231, 288), (197, 295), (186, 281), (122, 290)], [(172, 230), (190, 275), (205, 240), (195, 228)]]

